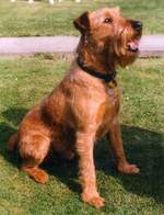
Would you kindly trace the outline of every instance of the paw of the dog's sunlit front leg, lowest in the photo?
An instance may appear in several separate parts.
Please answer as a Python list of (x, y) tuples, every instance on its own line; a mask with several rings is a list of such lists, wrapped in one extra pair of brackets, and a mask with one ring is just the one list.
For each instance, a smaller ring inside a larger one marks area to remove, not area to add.
[(104, 206), (105, 203), (105, 200), (98, 194), (92, 196), (90, 194), (82, 193), (82, 200), (96, 208)]

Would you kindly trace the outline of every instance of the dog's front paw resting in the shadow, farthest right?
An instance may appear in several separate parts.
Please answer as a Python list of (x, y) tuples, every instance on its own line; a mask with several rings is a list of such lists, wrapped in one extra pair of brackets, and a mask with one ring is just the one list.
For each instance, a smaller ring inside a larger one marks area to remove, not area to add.
[(136, 165), (130, 163), (119, 163), (118, 171), (126, 174), (137, 174), (140, 172), (140, 169)]

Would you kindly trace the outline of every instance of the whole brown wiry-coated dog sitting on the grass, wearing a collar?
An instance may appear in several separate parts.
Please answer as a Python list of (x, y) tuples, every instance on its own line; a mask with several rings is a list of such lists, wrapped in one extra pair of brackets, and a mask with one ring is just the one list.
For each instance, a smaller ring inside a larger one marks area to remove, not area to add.
[(81, 32), (78, 59), (60, 84), (26, 114), (9, 140), (9, 149), (17, 146), (22, 169), (40, 183), (48, 181), (39, 165), (50, 150), (67, 158), (75, 152), (82, 200), (101, 207), (104, 199), (97, 193), (93, 159), (96, 139), (107, 135), (119, 171), (139, 172), (124, 152), (115, 70), (138, 56), (142, 24), (122, 18), (118, 9), (101, 9), (83, 13), (74, 25)]

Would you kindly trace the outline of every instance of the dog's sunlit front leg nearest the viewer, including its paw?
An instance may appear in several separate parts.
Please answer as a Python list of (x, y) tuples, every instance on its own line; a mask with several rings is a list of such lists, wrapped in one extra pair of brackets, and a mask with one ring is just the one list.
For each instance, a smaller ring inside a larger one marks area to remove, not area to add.
[(93, 158), (95, 134), (92, 132), (77, 133), (77, 152), (79, 155), (80, 181), (82, 184), (82, 200), (90, 205), (101, 207), (104, 199), (96, 189), (96, 177)]

